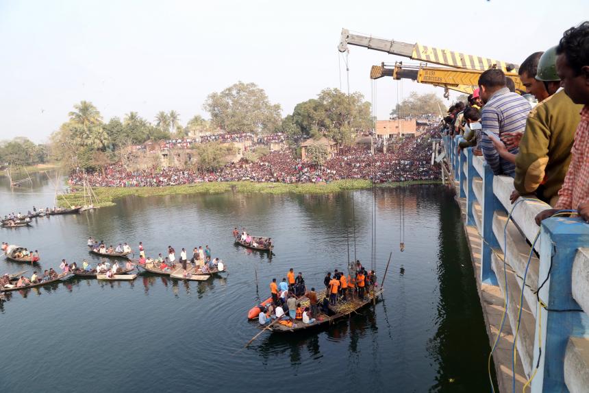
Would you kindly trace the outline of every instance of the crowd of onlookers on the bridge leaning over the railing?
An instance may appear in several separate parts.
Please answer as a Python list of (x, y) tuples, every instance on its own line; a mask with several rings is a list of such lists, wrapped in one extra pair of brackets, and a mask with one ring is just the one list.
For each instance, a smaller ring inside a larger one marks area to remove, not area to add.
[[(589, 21), (566, 30), (558, 45), (531, 53), (519, 80), (501, 69), (481, 73), (468, 104), (451, 106), (442, 131), (458, 136), (496, 176), (514, 178), (512, 203), (525, 195), (589, 220)], [(521, 82), (525, 92), (515, 91)], [(527, 97), (518, 93), (527, 93)]]

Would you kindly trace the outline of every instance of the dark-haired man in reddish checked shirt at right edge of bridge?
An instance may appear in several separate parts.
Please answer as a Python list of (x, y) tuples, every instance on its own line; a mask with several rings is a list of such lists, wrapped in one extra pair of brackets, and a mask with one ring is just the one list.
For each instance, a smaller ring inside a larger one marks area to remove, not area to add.
[(589, 221), (589, 22), (566, 30), (556, 53), (556, 70), (564, 92), (575, 104), (584, 107), (575, 132), (571, 165), (558, 192), (558, 202), (555, 209), (536, 216), (538, 225), (559, 210), (577, 210), (581, 218)]

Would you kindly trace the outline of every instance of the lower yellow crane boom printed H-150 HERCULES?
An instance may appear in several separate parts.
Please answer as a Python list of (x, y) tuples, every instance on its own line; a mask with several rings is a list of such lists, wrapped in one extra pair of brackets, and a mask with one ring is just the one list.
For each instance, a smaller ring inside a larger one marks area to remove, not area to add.
[[(479, 83), (479, 76), (483, 72), (473, 69), (427, 67), (427, 65), (405, 66), (401, 62), (396, 62), (394, 66), (387, 66), (385, 63), (372, 66), (370, 77), (371, 79), (379, 79), (390, 76), (395, 80), (410, 79), (418, 83), (440, 86), (445, 89), (444, 97), (447, 97), (448, 90), (472, 94)], [(505, 72), (505, 76), (513, 80), (516, 91), (525, 92), (525, 86), (521, 83), (517, 73)]]

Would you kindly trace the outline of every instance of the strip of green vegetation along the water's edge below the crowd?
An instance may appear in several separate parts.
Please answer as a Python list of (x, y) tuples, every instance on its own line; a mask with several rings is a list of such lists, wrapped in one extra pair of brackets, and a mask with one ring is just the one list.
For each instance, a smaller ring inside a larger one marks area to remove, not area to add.
[[(407, 182), (386, 182), (377, 184), (379, 188), (399, 187), (414, 184), (442, 184), (441, 180), (411, 180)], [(308, 193), (326, 194), (340, 191), (370, 189), (370, 180), (335, 180), (329, 183), (261, 183), (261, 182), (203, 182), (199, 184), (180, 184), (165, 187), (95, 187), (93, 188), (99, 204), (95, 207), (114, 206), (114, 200), (127, 196), (149, 197), (164, 195), (190, 195), (197, 193)], [(60, 206), (84, 205), (84, 194), (81, 190), (73, 191), (60, 198)]]

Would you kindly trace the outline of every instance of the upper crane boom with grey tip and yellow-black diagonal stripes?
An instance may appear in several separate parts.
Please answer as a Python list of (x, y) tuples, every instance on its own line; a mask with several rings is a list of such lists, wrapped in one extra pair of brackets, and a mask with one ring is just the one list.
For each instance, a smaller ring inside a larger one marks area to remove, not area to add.
[(391, 55), (403, 56), (413, 60), (430, 62), (459, 69), (484, 71), (495, 66), (503, 71), (517, 71), (519, 68), (517, 64), (501, 60), (468, 55), (466, 53), (450, 51), (448, 49), (428, 47), (419, 43), (408, 44), (395, 40), (385, 40), (383, 38), (350, 34), (348, 29), (342, 29), (340, 45), (338, 45), (339, 51), (347, 51), (348, 44), (376, 51), (383, 51)]

